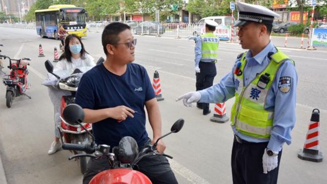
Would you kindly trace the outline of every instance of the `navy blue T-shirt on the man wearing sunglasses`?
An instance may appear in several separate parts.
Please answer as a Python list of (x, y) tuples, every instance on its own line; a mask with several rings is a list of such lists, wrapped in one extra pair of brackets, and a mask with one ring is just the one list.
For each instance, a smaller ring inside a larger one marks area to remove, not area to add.
[(75, 103), (94, 110), (125, 105), (137, 111), (134, 118), (128, 117), (120, 123), (108, 118), (93, 123), (92, 129), (97, 144), (118, 146), (122, 137), (131, 136), (141, 147), (148, 140), (144, 106), (153, 98), (154, 90), (143, 66), (129, 63), (126, 72), (118, 76), (101, 63), (83, 75)]

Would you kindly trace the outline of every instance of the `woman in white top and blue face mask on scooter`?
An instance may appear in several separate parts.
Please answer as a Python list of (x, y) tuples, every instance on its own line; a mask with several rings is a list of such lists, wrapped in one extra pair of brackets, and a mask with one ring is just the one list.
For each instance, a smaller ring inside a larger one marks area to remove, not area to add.
[[(81, 39), (74, 35), (68, 35), (65, 40), (65, 51), (60, 56), (59, 62), (54, 67), (55, 71), (66, 71), (70, 70), (73, 72), (75, 68), (83, 67), (83, 66), (95, 66), (96, 63), (94, 62), (94, 58), (90, 56), (84, 49), (84, 45)], [(51, 98), (52, 103), (54, 104), (55, 110), (55, 124), (60, 124), (60, 119), (56, 117), (56, 113), (60, 113), (60, 102), (61, 96), (55, 95), (53, 92), (54, 89), (49, 89), (49, 95)], [(59, 141), (59, 131), (55, 128), (55, 137), (54, 141), (52, 142), (48, 154), (54, 154), (61, 148), (61, 143)]]

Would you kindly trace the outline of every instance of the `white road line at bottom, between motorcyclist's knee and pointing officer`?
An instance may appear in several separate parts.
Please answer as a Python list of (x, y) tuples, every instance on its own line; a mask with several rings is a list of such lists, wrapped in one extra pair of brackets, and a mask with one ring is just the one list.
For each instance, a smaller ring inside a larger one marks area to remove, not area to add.
[(179, 163), (175, 162), (173, 159), (169, 159), (170, 166), (172, 170), (174, 170), (179, 175), (183, 176), (185, 179), (189, 180), (193, 184), (209, 184), (209, 182), (203, 178), (201, 178), (199, 175), (195, 174), (188, 168), (185, 168), (184, 166), (180, 165)]

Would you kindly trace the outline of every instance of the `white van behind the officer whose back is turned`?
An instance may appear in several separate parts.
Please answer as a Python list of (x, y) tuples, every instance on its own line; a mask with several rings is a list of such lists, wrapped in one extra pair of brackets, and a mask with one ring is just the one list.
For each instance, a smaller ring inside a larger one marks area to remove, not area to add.
[(231, 16), (210, 16), (210, 17), (204, 17), (199, 20), (198, 26), (199, 29), (193, 32), (193, 35), (203, 34), (205, 33), (204, 28), (204, 20), (205, 19), (211, 19), (217, 22), (218, 26), (216, 27), (215, 34), (220, 38), (220, 40), (229, 40), (230, 39), (230, 27), (232, 23), (232, 17)]

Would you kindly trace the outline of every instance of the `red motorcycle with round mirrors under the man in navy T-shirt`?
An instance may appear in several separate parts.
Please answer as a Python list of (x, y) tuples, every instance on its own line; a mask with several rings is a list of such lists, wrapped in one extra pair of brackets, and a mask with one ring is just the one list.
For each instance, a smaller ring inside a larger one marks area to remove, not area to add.
[[(84, 119), (84, 111), (82, 107), (77, 104), (71, 104), (66, 106), (63, 110), (63, 119), (71, 125), (81, 125)], [(151, 180), (143, 173), (133, 170), (136, 164), (143, 157), (147, 155), (164, 155), (169, 158), (172, 156), (162, 154), (156, 151), (157, 143), (163, 137), (177, 133), (184, 125), (184, 120), (177, 120), (171, 127), (171, 132), (162, 135), (156, 141), (154, 145), (147, 145), (139, 151), (136, 141), (133, 137), (125, 136), (121, 139), (119, 146), (110, 149), (109, 145), (97, 145), (94, 141), (91, 144), (63, 144), (62, 148), (66, 150), (79, 150), (85, 151), (87, 154), (77, 154), (69, 156), (69, 160), (75, 157), (107, 157), (108, 164), (110, 165), (109, 170), (102, 171), (95, 175), (89, 184), (151, 184)], [(84, 128), (84, 127), (83, 127)], [(84, 128), (86, 130), (86, 128)], [(88, 132), (89, 133), (89, 132)], [(94, 140), (94, 136), (89, 133)], [(112, 150), (112, 152), (110, 152)]]

